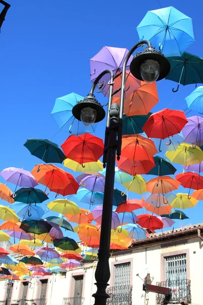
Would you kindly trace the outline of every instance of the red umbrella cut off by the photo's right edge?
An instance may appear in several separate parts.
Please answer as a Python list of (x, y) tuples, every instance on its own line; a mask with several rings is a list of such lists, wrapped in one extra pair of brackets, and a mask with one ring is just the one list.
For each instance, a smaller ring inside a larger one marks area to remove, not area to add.
[(197, 173), (186, 172), (184, 174), (176, 175), (176, 180), (181, 183), (184, 188), (189, 189), (188, 199), (190, 199), (190, 190), (201, 190), (203, 189), (203, 177)]

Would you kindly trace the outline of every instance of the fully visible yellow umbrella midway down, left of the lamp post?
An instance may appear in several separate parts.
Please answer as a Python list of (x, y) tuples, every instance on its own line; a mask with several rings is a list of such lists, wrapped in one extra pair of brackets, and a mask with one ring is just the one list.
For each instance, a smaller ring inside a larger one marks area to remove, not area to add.
[(78, 205), (70, 200), (67, 199), (57, 199), (51, 201), (47, 204), (48, 208), (52, 211), (58, 212), (62, 215), (69, 214), (69, 215), (77, 215), (81, 213), (80, 208)]

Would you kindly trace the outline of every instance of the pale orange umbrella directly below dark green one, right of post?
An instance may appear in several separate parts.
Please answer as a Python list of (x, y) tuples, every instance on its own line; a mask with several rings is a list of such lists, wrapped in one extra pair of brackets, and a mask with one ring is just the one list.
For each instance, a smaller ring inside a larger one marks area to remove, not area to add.
[(152, 194), (166, 194), (177, 190), (179, 186), (180, 182), (170, 176), (158, 176), (147, 182), (147, 192)]

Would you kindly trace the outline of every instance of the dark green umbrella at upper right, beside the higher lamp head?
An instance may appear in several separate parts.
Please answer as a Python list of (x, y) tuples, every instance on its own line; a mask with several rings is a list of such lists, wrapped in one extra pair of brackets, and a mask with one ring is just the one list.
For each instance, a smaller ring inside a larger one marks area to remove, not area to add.
[(203, 59), (199, 56), (184, 52), (182, 56), (167, 57), (171, 64), (170, 73), (166, 79), (178, 82), (177, 92), (180, 84), (189, 85), (203, 83)]

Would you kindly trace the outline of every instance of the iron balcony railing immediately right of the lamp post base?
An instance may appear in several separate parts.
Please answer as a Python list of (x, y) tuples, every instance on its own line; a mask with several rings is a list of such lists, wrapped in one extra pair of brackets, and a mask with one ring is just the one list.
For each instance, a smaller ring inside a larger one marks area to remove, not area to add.
[(108, 287), (107, 305), (132, 305), (132, 285)]

